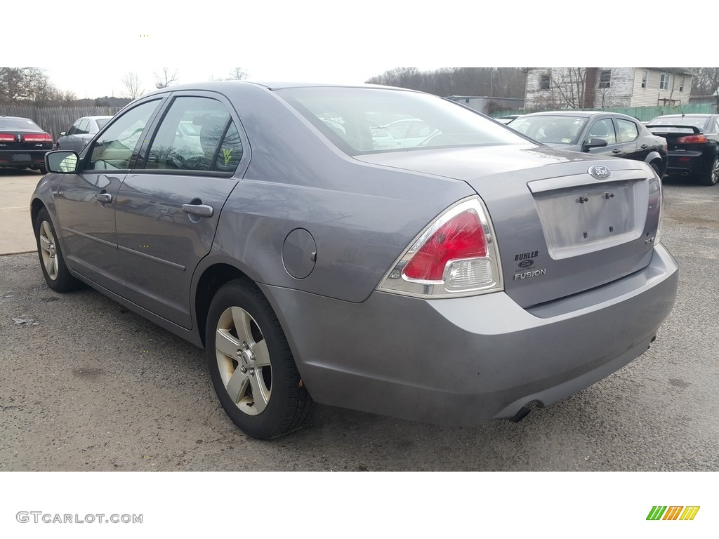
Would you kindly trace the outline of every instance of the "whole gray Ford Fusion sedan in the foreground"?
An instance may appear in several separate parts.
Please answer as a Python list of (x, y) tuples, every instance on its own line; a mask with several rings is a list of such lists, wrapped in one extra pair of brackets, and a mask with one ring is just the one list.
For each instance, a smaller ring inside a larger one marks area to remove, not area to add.
[[(372, 126), (397, 117), (431, 135), (380, 149)], [(415, 91), (173, 86), (47, 164), (31, 201), (47, 284), (85, 282), (206, 349), (257, 438), (313, 402), (519, 420), (644, 353), (677, 290), (646, 163)]]

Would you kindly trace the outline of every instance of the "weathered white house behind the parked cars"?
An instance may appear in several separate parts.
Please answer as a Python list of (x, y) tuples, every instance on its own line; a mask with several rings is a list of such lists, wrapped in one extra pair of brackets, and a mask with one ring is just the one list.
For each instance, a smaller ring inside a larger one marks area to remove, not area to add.
[(688, 104), (687, 68), (526, 68), (524, 108), (608, 109)]

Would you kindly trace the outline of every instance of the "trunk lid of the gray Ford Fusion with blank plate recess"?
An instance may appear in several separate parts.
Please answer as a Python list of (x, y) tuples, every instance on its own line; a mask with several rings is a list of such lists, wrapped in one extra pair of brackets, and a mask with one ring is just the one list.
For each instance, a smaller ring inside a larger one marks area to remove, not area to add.
[(356, 159), (468, 183), (490, 213), (505, 292), (523, 307), (649, 264), (661, 188), (649, 167), (548, 147), (386, 152)]

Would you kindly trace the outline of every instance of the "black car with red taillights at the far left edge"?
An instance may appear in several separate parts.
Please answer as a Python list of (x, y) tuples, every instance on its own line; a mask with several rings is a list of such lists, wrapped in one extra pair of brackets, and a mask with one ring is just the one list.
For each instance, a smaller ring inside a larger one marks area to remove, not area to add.
[(0, 168), (35, 168), (45, 173), (52, 137), (29, 118), (0, 116)]

